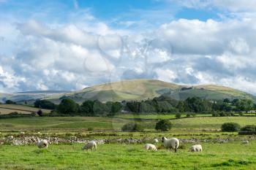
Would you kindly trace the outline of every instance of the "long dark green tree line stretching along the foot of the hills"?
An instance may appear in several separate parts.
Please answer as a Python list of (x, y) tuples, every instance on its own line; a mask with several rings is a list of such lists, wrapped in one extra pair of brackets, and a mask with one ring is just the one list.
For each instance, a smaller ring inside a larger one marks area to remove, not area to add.
[(222, 101), (211, 101), (192, 97), (184, 101), (177, 101), (167, 96), (159, 96), (144, 101), (108, 101), (105, 103), (98, 100), (88, 100), (84, 101), (83, 104), (77, 104), (70, 98), (64, 98), (59, 105), (47, 100), (38, 100), (34, 102), (34, 107), (53, 109), (54, 114), (85, 116), (113, 116), (122, 110), (136, 114), (214, 112), (216, 114), (214, 116), (222, 116), (222, 112), (249, 112), (256, 109), (253, 101), (249, 99), (230, 100), (225, 98)]

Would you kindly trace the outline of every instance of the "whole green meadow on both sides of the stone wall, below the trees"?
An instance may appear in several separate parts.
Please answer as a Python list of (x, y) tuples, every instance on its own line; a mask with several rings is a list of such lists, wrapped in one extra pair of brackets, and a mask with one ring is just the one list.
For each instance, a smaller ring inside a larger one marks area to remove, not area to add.
[[(182, 143), (178, 153), (166, 152), (157, 144), (157, 152), (146, 151), (144, 144), (99, 144), (97, 151), (82, 151), (83, 144), (50, 144), (48, 149), (36, 145), (0, 144), (0, 169), (255, 169), (255, 136), (220, 131), (222, 123), (243, 125), (256, 123), (256, 117), (210, 117), (209, 115), (173, 119), (173, 115), (119, 115), (117, 117), (19, 117), (0, 119), (0, 139), (13, 135), (58, 136), (68, 139), (145, 139), (162, 136), (201, 142), (203, 152), (187, 152), (192, 143)], [(170, 119), (168, 132), (154, 129), (159, 118)], [(128, 122), (143, 125), (143, 132), (121, 132)], [(92, 131), (88, 128), (93, 128)], [(40, 134), (37, 132), (40, 131)], [(232, 139), (222, 144), (219, 139)], [(248, 140), (243, 145), (243, 140)]]

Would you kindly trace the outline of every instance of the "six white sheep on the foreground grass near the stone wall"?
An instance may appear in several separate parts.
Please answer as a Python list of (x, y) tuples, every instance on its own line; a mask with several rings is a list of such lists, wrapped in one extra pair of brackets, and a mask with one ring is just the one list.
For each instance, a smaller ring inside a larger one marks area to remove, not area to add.
[[(157, 144), (159, 141), (158, 139), (154, 139), (154, 143)], [(165, 137), (162, 137), (162, 143), (163, 146), (166, 148), (166, 150), (175, 150), (175, 152), (177, 152), (178, 150), (178, 145), (179, 145), (179, 141), (176, 138), (171, 138), (171, 139), (167, 139)], [(39, 148), (47, 148), (48, 147), (48, 141), (43, 139), (43, 140), (39, 140), (37, 142), (37, 147)], [(145, 149), (146, 150), (154, 150), (157, 151), (157, 147), (154, 144), (145, 144)], [(87, 142), (83, 147), (82, 150), (97, 150), (97, 143), (92, 141), (92, 142)], [(200, 144), (195, 144), (192, 147), (189, 148), (190, 152), (202, 152), (203, 148)]]

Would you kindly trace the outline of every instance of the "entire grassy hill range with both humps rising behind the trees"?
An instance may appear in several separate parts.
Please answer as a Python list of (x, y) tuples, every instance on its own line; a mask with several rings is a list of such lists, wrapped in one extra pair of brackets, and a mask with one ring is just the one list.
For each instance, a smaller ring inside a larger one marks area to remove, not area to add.
[(95, 99), (99, 101), (143, 100), (161, 95), (170, 96), (177, 100), (197, 96), (210, 100), (249, 98), (256, 101), (255, 96), (249, 93), (224, 86), (197, 85), (189, 87), (159, 80), (124, 80), (121, 82), (110, 82), (91, 86), (73, 93), (66, 93), (64, 96), (59, 96), (59, 98), (55, 96), (55, 98), (50, 97), (48, 99), (59, 103), (63, 98), (71, 98), (81, 103), (85, 100)]

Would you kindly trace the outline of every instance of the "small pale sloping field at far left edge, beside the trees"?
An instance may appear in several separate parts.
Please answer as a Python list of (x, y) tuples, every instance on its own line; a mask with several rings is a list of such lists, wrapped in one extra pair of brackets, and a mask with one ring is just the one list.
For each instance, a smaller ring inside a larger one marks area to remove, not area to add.
[[(44, 113), (50, 113), (50, 109), (41, 109)], [(0, 104), (0, 112), (2, 115), (9, 114), (11, 112), (18, 112), (22, 114), (31, 114), (31, 112), (37, 112), (38, 108), (29, 107), (18, 104)]]

